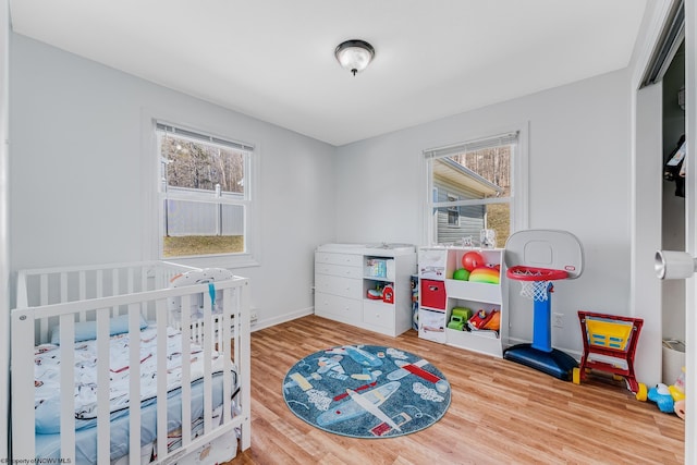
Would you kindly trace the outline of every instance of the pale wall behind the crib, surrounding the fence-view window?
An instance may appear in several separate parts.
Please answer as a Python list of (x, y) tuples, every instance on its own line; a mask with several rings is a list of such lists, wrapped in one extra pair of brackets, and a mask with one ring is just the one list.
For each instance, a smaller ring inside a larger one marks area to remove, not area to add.
[[(144, 111), (257, 146), (260, 323), (311, 313), (313, 249), (334, 238), (334, 148), (11, 35), (12, 269), (149, 259), (142, 231)], [(260, 325), (260, 326), (261, 326)]]

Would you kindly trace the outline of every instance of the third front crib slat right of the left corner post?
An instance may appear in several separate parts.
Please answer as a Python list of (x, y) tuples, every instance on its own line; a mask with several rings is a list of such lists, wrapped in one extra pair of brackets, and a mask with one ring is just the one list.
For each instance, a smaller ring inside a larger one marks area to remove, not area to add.
[(129, 462), (140, 462), (140, 306), (129, 304)]

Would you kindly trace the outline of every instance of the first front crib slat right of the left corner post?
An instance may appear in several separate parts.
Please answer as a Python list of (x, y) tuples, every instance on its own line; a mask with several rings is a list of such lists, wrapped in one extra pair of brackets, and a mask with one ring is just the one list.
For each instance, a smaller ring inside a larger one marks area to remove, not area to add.
[(61, 315), (61, 458), (75, 463), (75, 318)]

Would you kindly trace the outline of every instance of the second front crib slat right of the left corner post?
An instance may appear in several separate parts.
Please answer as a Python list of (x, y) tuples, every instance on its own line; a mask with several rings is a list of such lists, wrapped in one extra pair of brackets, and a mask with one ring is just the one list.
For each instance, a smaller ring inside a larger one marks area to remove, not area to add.
[[(97, 359), (109, 359), (109, 309), (97, 310)], [(106, 464), (111, 456), (111, 423), (109, 408), (109, 364), (97, 364), (97, 463)]]

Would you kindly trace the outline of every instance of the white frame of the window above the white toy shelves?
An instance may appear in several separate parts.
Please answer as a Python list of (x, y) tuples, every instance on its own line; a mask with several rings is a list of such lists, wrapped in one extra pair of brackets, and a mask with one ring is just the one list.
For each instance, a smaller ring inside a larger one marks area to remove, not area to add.
[[(447, 152), (449, 149), (455, 149), (476, 143), (477, 140), (486, 140), (497, 137), (500, 134), (510, 134), (517, 132), (517, 146), (515, 148), (514, 157), (511, 166), (511, 176), (513, 191), (511, 197), (498, 197), (498, 198), (482, 198), (470, 200), (457, 200), (457, 201), (436, 201), (433, 192), (433, 175), (432, 175), (432, 160), (438, 158), (433, 156), (437, 152)], [(424, 162), (424, 179), (425, 179), (425, 194), (424, 195), (424, 230), (423, 242), (424, 244), (438, 245), (437, 244), (437, 228), (438, 219), (433, 215), (436, 208), (440, 207), (453, 207), (453, 206), (479, 206), (488, 204), (502, 204), (509, 203), (511, 211), (511, 231), (513, 234), (516, 231), (525, 230), (528, 228), (528, 133), (529, 122), (522, 124), (513, 124), (505, 127), (492, 129), (490, 131), (481, 132), (478, 134), (472, 134), (463, 136), (461, 142), (455, 144), (448, 144), (440, 147), (433, 147), (423, 150)], [(503, 247), (504, 244), (497, 244), (498, 247)]]

